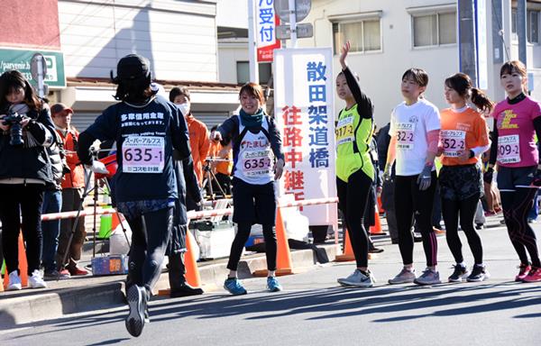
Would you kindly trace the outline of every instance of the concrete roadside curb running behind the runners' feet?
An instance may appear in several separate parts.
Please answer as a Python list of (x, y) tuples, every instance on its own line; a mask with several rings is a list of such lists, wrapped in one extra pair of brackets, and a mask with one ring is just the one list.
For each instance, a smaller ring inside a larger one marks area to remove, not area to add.
[[(328, 259), (335, 259), (339, 246), (326, 244), (317, 246), (325, 250)], [(307, 268), (316, 265), (316, 254), (313, 250), (291, 251), (293, 269)], [(200, 262), (199, 275), (203, 288), (222, 287), (224, 278), (229, 269), (226, 269), (226, 260), (218, 263)], [(252, 278), (252, 272), (266, 269), (267, 262), (264, 254), (255, 254), (244, 257), (239, 263), (239, 278)], [(21, 324), (32, 324), (44, 320), (63, 317), (67, 314), (94, 311), (100, 309), (122, 306), (124, 298), (124, 276), (118, 281), (105, 284), (96, 284), (85, 287), (60, 288), (55, 291), (44, 291), (42, 294), (32, 296), (8, 296), (0, 300), (0, 329), (10, 329)], [(162, 273), (156, 284), (158, 289), (169, 288), (168, 273)]]

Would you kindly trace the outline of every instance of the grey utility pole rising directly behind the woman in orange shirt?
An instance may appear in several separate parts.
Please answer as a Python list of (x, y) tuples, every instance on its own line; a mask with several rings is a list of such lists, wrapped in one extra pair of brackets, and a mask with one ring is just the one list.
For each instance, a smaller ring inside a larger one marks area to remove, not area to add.
[(458, 44), (460, 70), (477, 85), (474, 0), (458, 0)]

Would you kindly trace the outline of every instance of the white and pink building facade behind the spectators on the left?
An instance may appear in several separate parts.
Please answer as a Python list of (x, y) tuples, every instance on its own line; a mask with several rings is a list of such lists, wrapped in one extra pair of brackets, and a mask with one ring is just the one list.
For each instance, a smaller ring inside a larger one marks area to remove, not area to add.
[(58, 54), (62, 61), (53, 70), (62, 71), (62, 83), (51, 85), (48, 98), (73, 107), (79, 130), (115, 103), (110, 74), (130, 53), (151, 60), (152, 77), (166, 91), (187, 86), (192, 111), (208, 125), (238, 107), (238, 87), (218, 76), (217, 0), (5, 2), (10, 15), (0, 19), (0, 56), (3, 49), (10, 59), (16, 55), (6, 69), (23, 67), (33, 50), (47, 50), (46, 59)]

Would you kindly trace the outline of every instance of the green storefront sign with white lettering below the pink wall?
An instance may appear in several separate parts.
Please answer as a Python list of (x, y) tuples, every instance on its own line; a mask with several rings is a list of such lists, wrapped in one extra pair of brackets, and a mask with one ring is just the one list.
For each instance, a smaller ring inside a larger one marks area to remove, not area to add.
[(50, 87), (66, 87), (64, 55), (60, 51), (0, 49), (0, 74), (10, 69), (18, 69), (35, 85), (30, 74), (30, 61), (35, 53), (41, 53), (45, 57), (47, 63), (45, 83)]

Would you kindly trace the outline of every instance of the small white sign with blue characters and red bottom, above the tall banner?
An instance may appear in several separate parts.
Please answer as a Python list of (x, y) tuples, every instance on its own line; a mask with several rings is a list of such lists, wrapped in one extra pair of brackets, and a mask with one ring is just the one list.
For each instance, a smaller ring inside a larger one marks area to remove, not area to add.
[(276, 27), (280, 24), (274, 11), (274, 0), (254, 0), (257, 37), (257, 61), (272, 61), (272, 51), (280, 48)]

